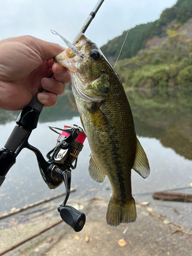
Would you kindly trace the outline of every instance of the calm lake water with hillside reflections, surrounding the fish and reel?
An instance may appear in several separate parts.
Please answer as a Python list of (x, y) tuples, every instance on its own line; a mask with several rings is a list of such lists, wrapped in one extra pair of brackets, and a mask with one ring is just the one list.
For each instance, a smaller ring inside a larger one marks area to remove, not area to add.
[[(133, 170), (133, 195), (136, 201), (150, 201), (150, 207), (157, 212), (191, 228), (191, 203), (156, 201), (150, 192), (178, 188), (184, 188), (179, 190), (184, 193), (192, 192), (189, 185), (192, 182), (192, 89), (129, 90), (127, 97), (136, 133), (151, 166), (151, 175), (147, 179)], [(4, 146), (15, 126), (15, 121), (10, 120), (14, 120), (17, 115), (18, 113), (0, 112), (0, 147)], [(49, 130), (48, 125), (63, 127), (73, 123), (81, 126), (73, 94), (66, 92), (59, 97), (54, 107), (42, 111), (29, 143), (46, 157), (57, 140), (57, 134)], [(77, 168), (72, 170), (72, 187), (77, 187), (77, 191), (70, 197), (78, 195), (82, 201), (87, 196), (110, 198), (109, 180), (106, 179), (100, 185), (89, 176), (90, 153), (86, 139), (78, 157)], [(18, 155), (0, 188), (0, 214), (13, 207), (19, 208), (64, 191), (63, 184), (54, 190), (48, 188), (41, 178), (34, 153), (25, 149)], [(181, 212), (182, 220), (174, 213), (174, 207)]]

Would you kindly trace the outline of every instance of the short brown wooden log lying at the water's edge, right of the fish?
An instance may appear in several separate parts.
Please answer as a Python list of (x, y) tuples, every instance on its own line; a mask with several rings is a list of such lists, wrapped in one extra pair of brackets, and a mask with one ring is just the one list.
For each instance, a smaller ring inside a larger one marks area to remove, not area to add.
[(174, 193), (168, 191), (157, 191), (153, 193), (153, 198), (163, 201), (192, 202), (192, 194)]

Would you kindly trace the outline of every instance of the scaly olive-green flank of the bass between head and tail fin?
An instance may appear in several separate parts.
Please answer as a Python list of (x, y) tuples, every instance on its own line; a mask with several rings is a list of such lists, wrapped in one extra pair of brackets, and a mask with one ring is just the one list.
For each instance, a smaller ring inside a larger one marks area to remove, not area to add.
[[(118, 84), (118, 79), (113, 82)], [(110, 123), (106, 131), (95, 129), (93, 125), (90, 125), (87, 109), (92, 103), (88, 106), (86, 101), (81, 100), (75, 93), (74, 95), (82, 120), (86, 120), (83, 121), (83, 125), (89, 138), (93, 157), (103, 173), (110, 179), (114, 198), (118, 201), (122, 199), (123, 202), (129, 201), (131, 169), (136, 154), (136, 134), (131, 108), (121, 84), (111, 86), (109, 98), (100, 106), (100, 110)], [(108, 148), (107, 152), (106, 148)], [(126, 186), (126, 184), (129, 185)]]

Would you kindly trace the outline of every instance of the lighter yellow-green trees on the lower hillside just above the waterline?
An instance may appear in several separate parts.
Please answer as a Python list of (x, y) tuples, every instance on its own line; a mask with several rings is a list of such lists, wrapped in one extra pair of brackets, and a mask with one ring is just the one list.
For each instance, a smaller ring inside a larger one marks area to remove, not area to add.
[[(190, 19), (192, 28), (192, 19)], [(192, 31), (191, 31), (192, 32)], [(170, 34), (175, 31), (170, 30)], [(143, 50), (115, 67), (124, 87), (192, 86), (192, 39), (185, 34), (170, 35), (160, 47)]]

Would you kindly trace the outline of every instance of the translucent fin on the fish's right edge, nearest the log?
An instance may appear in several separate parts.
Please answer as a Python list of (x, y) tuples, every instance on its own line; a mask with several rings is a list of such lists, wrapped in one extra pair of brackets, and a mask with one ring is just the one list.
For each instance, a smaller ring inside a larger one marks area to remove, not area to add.
[(147, 156), (138, 139), (133, 169), (144, 179), (150, 175), (150, 165), (148, 164)]

